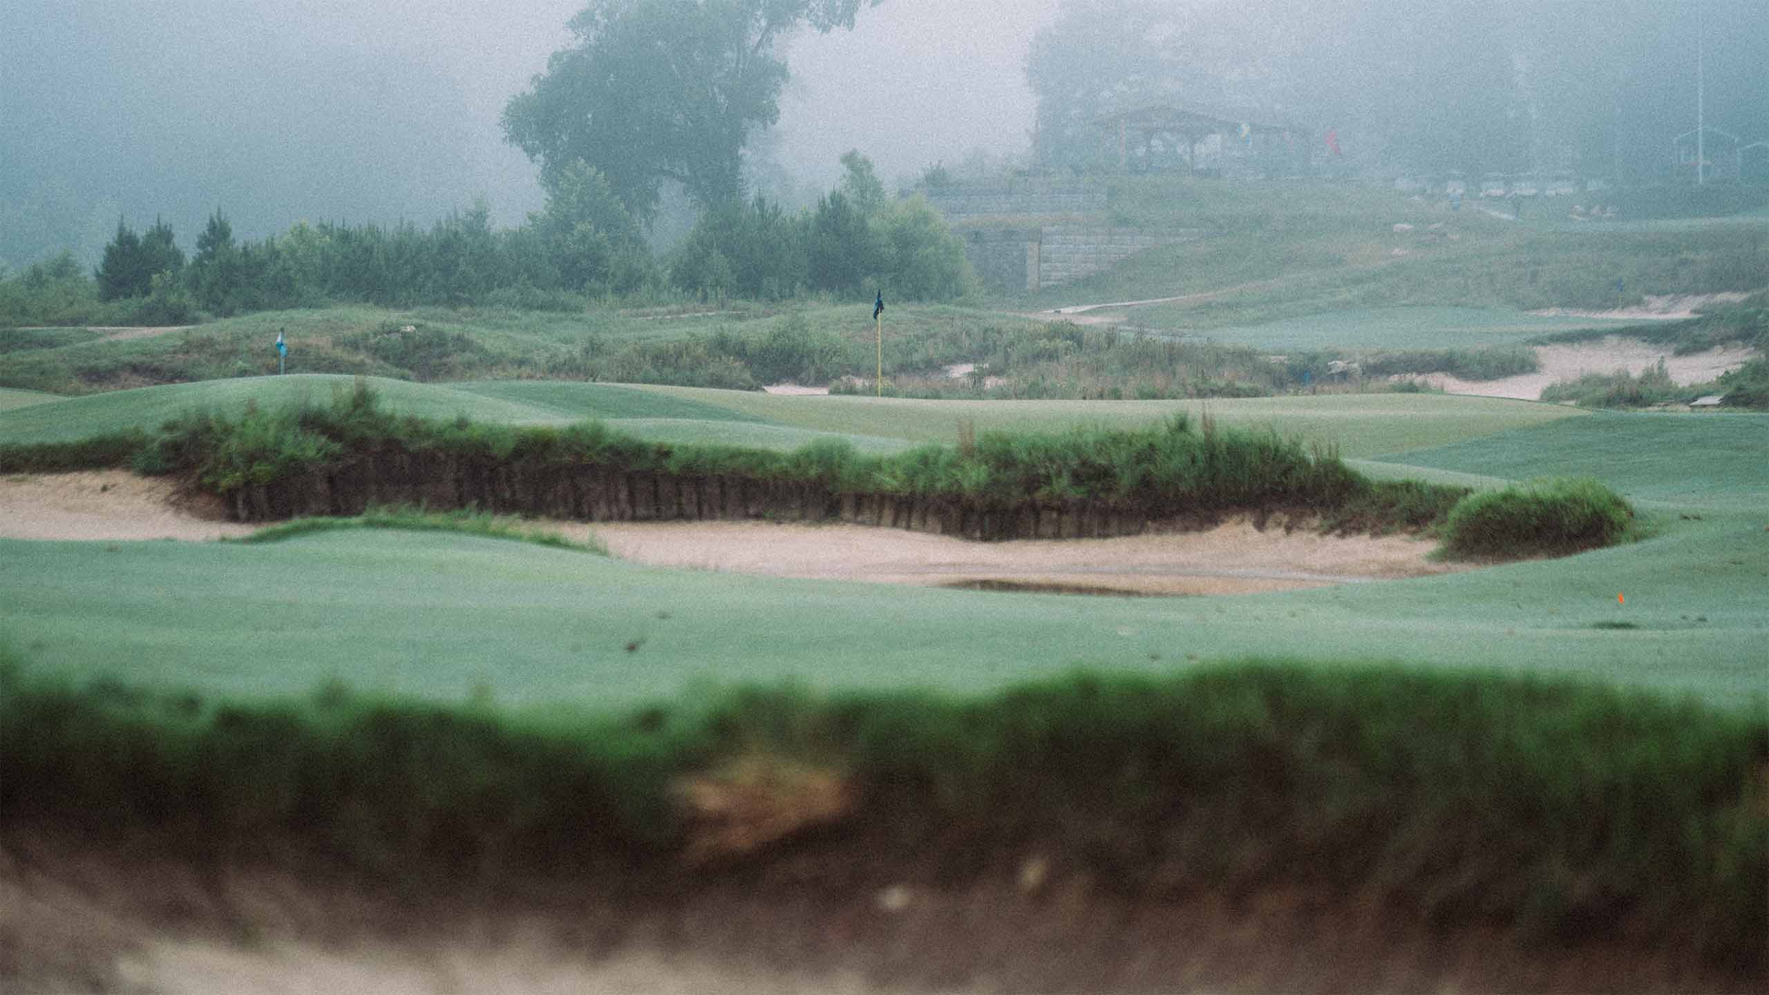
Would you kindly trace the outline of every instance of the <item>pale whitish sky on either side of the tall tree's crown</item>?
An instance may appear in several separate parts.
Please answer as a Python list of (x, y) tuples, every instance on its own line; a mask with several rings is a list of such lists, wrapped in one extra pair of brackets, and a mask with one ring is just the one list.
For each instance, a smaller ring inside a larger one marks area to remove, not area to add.
[[(483, 175), (508, 184), (485, 191), (494, 205), (532, 204), (532, 168), (502, 143), (497, 115), (570, 42), (564, 25), (582, 0), (175, 4), (193, 41), (251, 46), (262, 32), (290, 32), (423, 57), (460, 83), (462, 110), (478, 135), (471, 158)], [(801, 32), (784, 48), (793, 69), (778, 124), (784, 165), (828, 186), (847, 149), (869, 154), (886, 179), (976, 147), (1026, 149), (1033, 104), (1026, 50), (1056, 7), (1058, 0), (886, 0), (862, 9), (853, 32)]]

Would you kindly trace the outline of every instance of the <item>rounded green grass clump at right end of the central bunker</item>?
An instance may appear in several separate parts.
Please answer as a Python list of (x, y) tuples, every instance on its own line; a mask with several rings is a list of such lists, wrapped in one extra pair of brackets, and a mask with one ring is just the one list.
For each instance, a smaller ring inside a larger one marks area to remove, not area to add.
[(1633, 517), (1599, 480), (1553, 476), (1468, 494), (1451, 508), (1444, 533), (1458, 554), (1558, 554), (1620, 542)]

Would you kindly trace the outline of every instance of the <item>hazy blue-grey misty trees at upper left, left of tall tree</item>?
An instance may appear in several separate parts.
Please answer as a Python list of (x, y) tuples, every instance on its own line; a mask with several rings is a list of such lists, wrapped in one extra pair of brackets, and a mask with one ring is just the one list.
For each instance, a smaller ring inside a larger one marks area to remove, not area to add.
[(428, 221), (490, 189), (442, 67), (269, 28), (230, 44), (226, 5), (5, 5), (0, 262), (64, 248), (96, 262), (119, 216), (191, 232), (219, 204), (269, 234), (299, 218)]

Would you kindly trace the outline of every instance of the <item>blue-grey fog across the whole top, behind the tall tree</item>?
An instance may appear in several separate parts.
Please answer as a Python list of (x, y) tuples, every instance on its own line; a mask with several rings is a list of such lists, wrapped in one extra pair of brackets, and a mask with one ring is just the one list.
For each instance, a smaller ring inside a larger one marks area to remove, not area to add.
[[(582, 5), (11, 4), (0, 30), (0, 262), (16, 267), (60, 248), (90, 260), (119, 218), (145, 227), (165, 216), (189, 244), (218, 207), (242, 237), (297, 220), (428, 223), (476, 197), (497, 223), (518, 223), (541, 191), (536, 166), (504, 142), (499, 115), (570, 41), (566, 21)], [(862, 7), (851, 32), (800, 30), (778, 46), (793, 73), (780, 120), (752, 140), (748, 158), (764, 166), (759, 175), (810, 191), (835, 181), (847, 149), (869, 154), (886, 182), (936, 161), (955, 166), (976, 150), (994, 163), (1037, 156), (1060, 165), (1049, 126), (1045, 149), (1035, 154), (1030, 140), (1035, 37), (1061, 27), (1065, 11), (1095, 11), (1086, 25), (1109, 41), (1132, 7), (884, 0)], [(1159, 41), (1146, 66), (1169, 80), (1106, 81), (1109, 92), (1093, 97), (1201, 94), (1263, 106), (1337, 127), (1366, 174), (1444, 168), (1489, 147), (1505, 156), (1491, 158), (1491, 168), (1512, 168), (1551, 158), (1544, 149), (1578, 145), (1571, 158), (1585, 172), (1601, 159), (1604, 172), (1647, 175), (1668, 142), (1695, 127), (1691, 4), (1141, 7), (1157, 12), (1155, 27), (1120, 41)], [(1769, 4), (1707, 0), (1704, 16), (1709, 124), (1744, 142), (1769, 138)], [(1077, 55), (1095, 74), (1145, 66), (1134, 53), (1090, 50), (1074, 34), (1047, 42), (1047, 53)], [(1056, 103), (1044, 113), (1061, 110)], [(1067, 110), (1079, 120), (1097, 108), (1081, 101)]]

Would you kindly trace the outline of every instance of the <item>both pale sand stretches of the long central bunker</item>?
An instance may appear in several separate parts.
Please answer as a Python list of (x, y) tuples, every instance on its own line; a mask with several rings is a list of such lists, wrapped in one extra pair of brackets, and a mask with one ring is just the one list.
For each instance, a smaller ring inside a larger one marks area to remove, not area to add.
[[(536, 522), (633, 563), (766, 577), (1123, 595), (1228, 595), (1456, 570), (1413, 536), (1325, 536), (1229, 519), (1208, 531), (969, 542), (853, 524)], [(249, 535), (211, 501), (124, 471), (0, 478), (0, 538), (211, 540)]]

